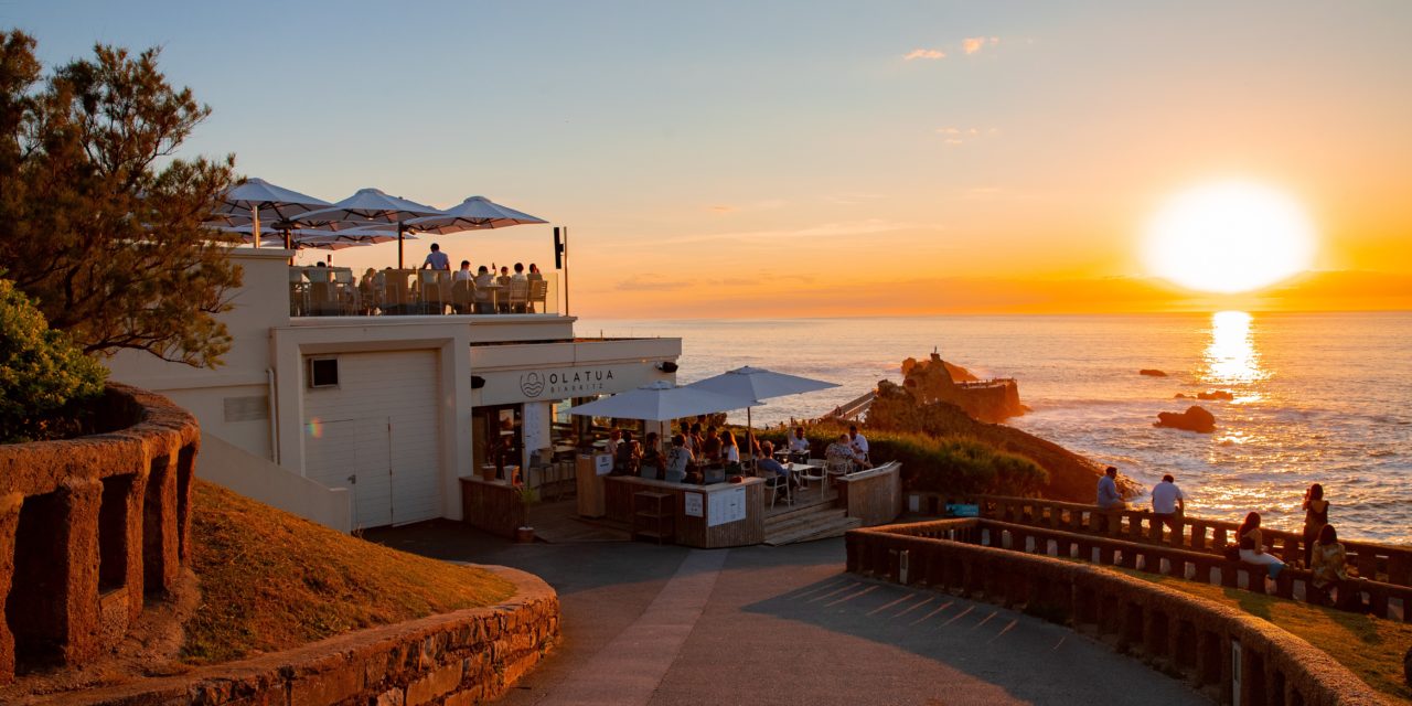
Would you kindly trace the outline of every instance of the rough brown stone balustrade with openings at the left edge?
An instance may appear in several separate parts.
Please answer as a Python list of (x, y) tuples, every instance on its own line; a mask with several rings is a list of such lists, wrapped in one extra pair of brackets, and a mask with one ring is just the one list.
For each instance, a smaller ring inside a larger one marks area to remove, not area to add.
[(196, 419), (120, 384), (96, 419), (112, 431), (0, 445), (0, 683), (114, 645), (188, 559)]

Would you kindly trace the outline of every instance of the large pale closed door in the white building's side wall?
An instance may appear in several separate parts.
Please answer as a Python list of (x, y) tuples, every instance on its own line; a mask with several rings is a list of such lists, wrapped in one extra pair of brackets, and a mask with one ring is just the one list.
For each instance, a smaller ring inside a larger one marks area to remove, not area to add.
[(354, 524), (441, 517), (435, 352), (349, 353), (337, 385), (304, 390), (305, 476), (353, 493)]

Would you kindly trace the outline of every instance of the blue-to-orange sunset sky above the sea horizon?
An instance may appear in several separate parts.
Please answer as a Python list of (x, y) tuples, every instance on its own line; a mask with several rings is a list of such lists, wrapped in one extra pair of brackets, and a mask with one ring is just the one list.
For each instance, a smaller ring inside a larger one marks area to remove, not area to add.
[[(0, 25), (49, 65), (161, 45), (215, 109), (188, 152), (243, 174), (568, 226), (573, 313), (1412, 308), (1412, 3), (31, 1)], [(1315, 271), (1154, 280), (1152, 215), (1223, 179), (1295, 199)], [(436, 240), (552, 265), (542, 226)]]

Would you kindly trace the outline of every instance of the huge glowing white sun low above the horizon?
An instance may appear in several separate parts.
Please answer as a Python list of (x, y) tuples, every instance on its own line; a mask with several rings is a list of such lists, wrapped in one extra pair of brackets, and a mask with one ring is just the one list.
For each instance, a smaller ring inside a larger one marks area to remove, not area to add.
[(1248, 182), (1220, 182), (1179, 193), (1148, 225), (1144, 261), (1151, 274), (1189, 289), (1237, 294), (1308, 270), (1315, 227), (1289, 196)]

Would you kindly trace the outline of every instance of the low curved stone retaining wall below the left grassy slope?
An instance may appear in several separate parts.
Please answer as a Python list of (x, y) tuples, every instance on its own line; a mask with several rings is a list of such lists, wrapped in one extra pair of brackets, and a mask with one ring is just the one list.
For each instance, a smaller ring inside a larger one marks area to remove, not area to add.
[(559, 599), (539, 578), (487, 566), (515, 585), (498, 606), (360, 630), (287, 652), (90, 689), (69, 706), (460, 706), (503, 695), (559, 637)]

